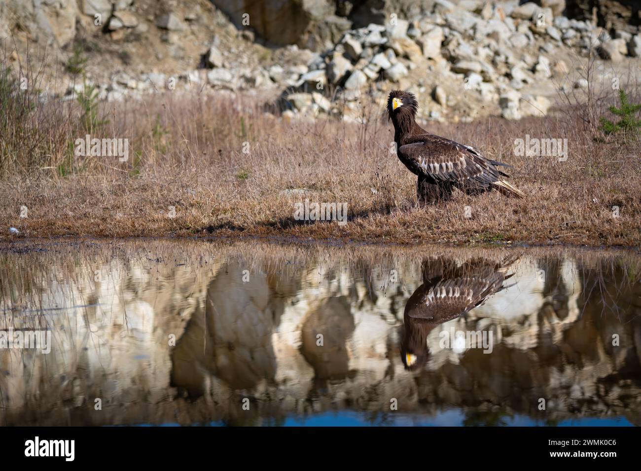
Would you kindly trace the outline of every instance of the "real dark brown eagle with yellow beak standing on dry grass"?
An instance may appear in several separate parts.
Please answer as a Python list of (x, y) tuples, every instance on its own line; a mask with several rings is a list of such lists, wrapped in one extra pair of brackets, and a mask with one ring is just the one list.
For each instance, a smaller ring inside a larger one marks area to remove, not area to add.
[(394, 124), (394, 142), (399, 160), (417, 175), (417, 196), (420, 203), (447, 199), (453, 188), (466, 194), (499, 190), (504, 195), (525, 197), (518, 188), (504, 179), (499, 167), (506, 163), (485, 158), (470, 145), (428, 133), (416, 122), (419, 103), (414, 94), (403, 90), (390, 92), (387, 114)]

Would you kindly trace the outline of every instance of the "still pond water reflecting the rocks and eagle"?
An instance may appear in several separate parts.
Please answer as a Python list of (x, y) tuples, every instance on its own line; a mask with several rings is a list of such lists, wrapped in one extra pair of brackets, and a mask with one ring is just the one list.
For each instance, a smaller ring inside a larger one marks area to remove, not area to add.
[(628, 251), (4, 245), (0, 424), (639, 425), (640, 276)]

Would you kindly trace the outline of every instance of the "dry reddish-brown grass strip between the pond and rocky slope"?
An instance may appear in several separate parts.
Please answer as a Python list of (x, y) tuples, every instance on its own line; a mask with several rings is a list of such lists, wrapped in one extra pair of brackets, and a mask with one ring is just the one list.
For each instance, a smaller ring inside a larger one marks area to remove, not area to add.
[[(195, 91), (104, 104), (99, 116), (108, 122), (90, 132), (128, 138), (126, 162), (73, 155), (74, 140), (88, 131), (72, 101), (30, 105), (35, 111), (21, 117), (22, 128), (6, 119), (14, 132), (0, 129), (5, 131), (0, 136), (2, 237), (14, 238), (8, 232), (13, 226), (22, 236), (44, 237), (294, 236), (626, 246), (641, 241), (637, 138), (595, 141), (580, 110), (520, 122), (428, 124), (434, 133), (513, 165), (510, 181), (528, 198), (456, 194), (421, 208), (415, 177), (390, 154), (393, 130), (382, 106), (367, 108), (367, 124), (288, 124), (265, 113), (263, 103), (262, 97)], [(569, 158), (515, 156), (514, 140), (526, 134), (567, 138)], [(287, 191), (292, 189), (304, 192)], [(346, 202), (349, 222), (295, 220), (294, 205), (306, 198)], [(22, 206), (28, 210), (24, 218)], [(469, 219), (465, 206), (471, 208)], [(613, 206), (619, 217), (613, 217)]]

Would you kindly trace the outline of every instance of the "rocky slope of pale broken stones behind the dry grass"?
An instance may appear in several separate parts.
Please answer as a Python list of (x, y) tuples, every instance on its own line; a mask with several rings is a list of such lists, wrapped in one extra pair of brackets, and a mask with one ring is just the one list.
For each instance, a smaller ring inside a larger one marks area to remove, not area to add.
[(0, 5), (0, 38), (13, 70), (29, 44), (33, 61), (46, 45), (49, 75), (40, 88), (69, 99), (85, 82), (108, 101), (158, 90), (246, 90), (279, 97), (287, 119), (362, 120), (363, 97), (382, 105), (388, 90), (406, 88), (429, 119), (519, 119), (545, 115), (560, 90), (587, 87), (588, 53), (601, 58), (594, 77), (601, 85), (626, 83), (638, 69), (638, 8), (625, 1), (598, 7), (565, 0), (8, 0)]

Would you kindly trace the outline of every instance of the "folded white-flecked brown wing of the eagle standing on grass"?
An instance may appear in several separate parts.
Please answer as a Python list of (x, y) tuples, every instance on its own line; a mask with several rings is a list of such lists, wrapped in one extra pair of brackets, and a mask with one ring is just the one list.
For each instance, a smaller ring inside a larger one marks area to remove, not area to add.
[(506, 164), (484, 158), (474, 147), (429, 133), (412, 136), (410, 143), (399, 147), (398, 156), (413, 173), (457, 186), (487, 188), (506, 176), (495, 168)]

